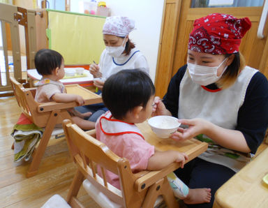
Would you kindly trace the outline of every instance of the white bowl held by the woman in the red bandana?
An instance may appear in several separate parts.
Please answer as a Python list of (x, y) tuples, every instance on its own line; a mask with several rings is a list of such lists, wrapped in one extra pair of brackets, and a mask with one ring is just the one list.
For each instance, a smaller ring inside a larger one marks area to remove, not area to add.
[(151, 117), (148, 124), (158, 138), (169, 138), (181, 125), (177, 118), (170, 116)]

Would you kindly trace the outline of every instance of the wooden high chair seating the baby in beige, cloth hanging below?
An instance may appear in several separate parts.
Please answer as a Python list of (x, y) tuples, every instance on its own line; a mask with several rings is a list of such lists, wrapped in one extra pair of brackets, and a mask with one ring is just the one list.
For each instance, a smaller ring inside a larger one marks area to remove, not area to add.
[[(36, 88), (27, 88), (24, 89), (22, 84), (17, 82), (15, 78), (10, 77), (11, 86), (13, 88), (15, 97), (17, 99), (17, 104), (22, 109), (22, 112), (25, 116), (31, 120), (36, 126), (45, 127), (42, 138), (38, 144), (38, 147), (35, 149), (34, 154), (32, 155), (31, 165), (29, 170), (27, 170), (27, 177), (32, 177), (38, 172), (38, 167), (40, 165), (41, 158), (45, 153), (47, 143), (50, 140), (52, 131), (56, 124), (62, 124), (64, 119), (71, 119), (68, 109), (70, 107), (75, 107), (77, 104), (75, 102), (70, 103), (37, 103), (34, 100), (36, 94)], [(69, 87), (69, 86), (68, 86)], [(66, 87), (66, 89), (68, 88)], [(77, 84), (70, 85), (70, 93), (73, 93), (75, 90), (77, 94), (84, 94), (87, 98), (85, 105), (93, 103), (101, 103), (102, 98), (91, 91), (80, 87)], [(67, 92), (69, 90), (67, 89)], [(80, 92), (81, 91), (81, 92)], [(83, 96), (83, 98), (84, 98)]]

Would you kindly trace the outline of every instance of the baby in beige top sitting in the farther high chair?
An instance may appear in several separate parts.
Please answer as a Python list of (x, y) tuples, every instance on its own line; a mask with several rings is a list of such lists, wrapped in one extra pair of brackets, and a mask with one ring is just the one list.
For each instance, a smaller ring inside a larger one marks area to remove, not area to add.
[[(42, 75), (42, 79), (36, 84), (35, 100), (38, 103), (51, 101), (68, 103), (75, 101), (78, 105), (84, 104), (82, 96), (67, 94), (64, 84), (59, 81), (64, 77), (64, 57), (59, 52), (49, 49), (42, 49), (36, 53), (34, 58), (37, 72)], [(75, 109), (68, 110), (73, 122), (84, 130), (93, 129), (95, 123), (84, 120), (91, 112), (80, 113)]]

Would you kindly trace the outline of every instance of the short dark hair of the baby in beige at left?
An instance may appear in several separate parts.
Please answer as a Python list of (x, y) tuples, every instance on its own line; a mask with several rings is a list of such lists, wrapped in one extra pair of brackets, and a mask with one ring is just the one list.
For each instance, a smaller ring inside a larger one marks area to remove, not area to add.
[(38, 50), (34, 57), (36, 70), (40, 75), (51, 75), (57, 67), (61, 67), (64, 57), (59, 52), (50, 49)]

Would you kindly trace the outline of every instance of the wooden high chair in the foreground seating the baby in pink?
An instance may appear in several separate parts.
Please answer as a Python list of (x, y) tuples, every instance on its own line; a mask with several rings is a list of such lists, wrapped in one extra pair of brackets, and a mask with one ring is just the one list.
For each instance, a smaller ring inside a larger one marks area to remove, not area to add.
[[(159, 171), (163, 174), (150, 174), (150, 171), (133, 174), (126, 158), (120, 158), (94, 138), (95, 130), (86, 133), (68, 119), (63, 127), (70, 155), (77, 165), (67, 196), (71, 207), (83, 207), (76, 197), (82, 183), (89, 183), (90, 190), (86, 190), (88, 193), (93, 190), (89, 195), (92, 193), (91, 198), (101, 207), (154, 207), (159, 195), (168, 207), (179, 207), (165, 169)], [(96, 173), (96, 165), (100, 165), (103, 178)], [(121, 191), (107, 182), (105, 170), (119, 176)]]

